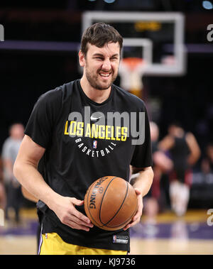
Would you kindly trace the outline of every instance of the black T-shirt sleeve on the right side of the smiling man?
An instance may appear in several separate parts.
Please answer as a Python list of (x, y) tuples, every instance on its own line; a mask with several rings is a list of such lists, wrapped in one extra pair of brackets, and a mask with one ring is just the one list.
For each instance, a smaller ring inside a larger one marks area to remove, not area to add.
[(148, 114), (146, 111), (146, 106), (143, 104), (142, 112), (144, 112), (144, 141), (142, 144), (136, 145), (133, 153), (133, 158), (131, 159), (131, 165), (136, 168), (146, 168), (153, 165), (152, 160), (152, 149), (151, 149), (151, 134), (150, 125), (148, 120)]

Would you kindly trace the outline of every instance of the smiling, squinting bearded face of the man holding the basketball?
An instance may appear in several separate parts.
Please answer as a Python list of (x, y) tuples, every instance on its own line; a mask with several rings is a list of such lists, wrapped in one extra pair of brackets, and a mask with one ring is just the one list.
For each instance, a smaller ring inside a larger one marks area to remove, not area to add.
[(109, 89), (118, 75), (119, 60), (119, 43), (108, 43), (103, 48), (88, 43), (87, 55), (80, 53), (80, 65), (94, 89)]

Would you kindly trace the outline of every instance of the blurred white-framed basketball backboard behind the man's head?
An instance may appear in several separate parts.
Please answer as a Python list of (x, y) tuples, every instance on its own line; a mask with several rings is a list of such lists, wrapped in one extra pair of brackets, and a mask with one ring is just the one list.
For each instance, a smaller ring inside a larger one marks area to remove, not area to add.
[(185, 74), (185, 19), (182, 13), (86, 11), (82, 16), (82, 31), (99, 21), (109, 23), (121, 33), (123, 57), (145, 60), (145, 75)]

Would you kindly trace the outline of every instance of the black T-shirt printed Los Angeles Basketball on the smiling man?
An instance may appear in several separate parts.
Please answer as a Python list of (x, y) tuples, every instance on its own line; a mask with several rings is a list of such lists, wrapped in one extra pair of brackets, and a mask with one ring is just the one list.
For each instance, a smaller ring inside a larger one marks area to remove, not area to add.
[[(119, 113), (121, 121), (111, 120), (109, 112)], [(139, 112), (145, 115), (145, 126), (140, 129), (145, 140), (132, 145), (136, 139), (132, 130), (138, 131), (142, 122)], [(40, 171), (62, 196), (83, 200), (89, 185), (99, 177), (113, 175), (129, 181), (129, 165), (152, 165), (146, 107), (141, 99), (114, 84), (102, 104), (84, 94), (80, 79), (46, 92), (35, 104), (25, 133), (46, 149)], [(56, 232), (65, 242), (79, 246), (129, 251), (129, 240), (113, 243), (114, 235), (129, 238), (129, 231), (104, 231), (96, 226), (89, 232), (72, 229), (43, 202), (38, 202), (38, 209), (43, 212), (43, 234)], [(85, 214), (83, 206), (77, 209)]]

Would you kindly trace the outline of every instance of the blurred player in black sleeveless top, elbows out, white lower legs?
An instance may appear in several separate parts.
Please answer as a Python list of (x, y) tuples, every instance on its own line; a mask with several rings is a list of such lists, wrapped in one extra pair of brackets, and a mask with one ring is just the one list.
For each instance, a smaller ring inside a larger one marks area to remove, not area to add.
[(200, 158), (200, 147), (195, 136), (186, 133), (180, 123), (171, 123), (168, 135), (158, 143), (160, 150), (169, 151), (173, 160), (173, 171), (170, 172), (170, 203), (177, 216), (187, 211), (192, 184), (192, 166)]

